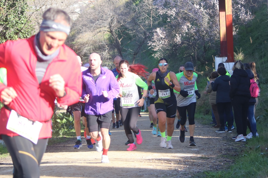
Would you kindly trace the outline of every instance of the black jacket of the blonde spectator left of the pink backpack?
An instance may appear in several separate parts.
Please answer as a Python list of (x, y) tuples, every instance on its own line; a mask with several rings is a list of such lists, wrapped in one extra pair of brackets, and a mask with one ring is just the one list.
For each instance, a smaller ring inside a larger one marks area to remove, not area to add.
[(248, 99), (251, 98), (250, 95), (250, 78), (244, 69), (235, 69), (233, 75), (230, 78), (230, 98), (233, 99), (234, 96), (245, 96)]

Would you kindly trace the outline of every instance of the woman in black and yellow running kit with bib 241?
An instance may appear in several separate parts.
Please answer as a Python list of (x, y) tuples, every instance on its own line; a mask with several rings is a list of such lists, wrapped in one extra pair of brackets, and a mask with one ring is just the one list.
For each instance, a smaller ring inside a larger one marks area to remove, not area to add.
[[(174, 131), (177, 101), (174, 90), (180, 92), (180, 85), (174, 72), (169, 71), (165, 58), (158, 61), (159, 70), (152, 72), (147, 80), (148, 89), (153, 94), (152, 81), (155, 81), (155, 109), (158, 116), (158, 127), (161, 132), (160, 147), (173, 148), (171, 138)], [(167, 123), (167, 138), (166, 138)]]

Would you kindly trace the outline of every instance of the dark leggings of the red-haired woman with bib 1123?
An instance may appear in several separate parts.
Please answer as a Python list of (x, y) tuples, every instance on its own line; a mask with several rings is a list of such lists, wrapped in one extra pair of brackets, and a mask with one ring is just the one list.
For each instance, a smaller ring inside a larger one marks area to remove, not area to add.
[(134, 138), (131, 130), (133, 130), (135, 134), (139, 133), (139, 129), (137, 127), (137, 120), (141, 107), (132, 107), (132, 108), (120, 107), (120, 109), (126, 136), (129, 140), (129, 143), (134, 143)]

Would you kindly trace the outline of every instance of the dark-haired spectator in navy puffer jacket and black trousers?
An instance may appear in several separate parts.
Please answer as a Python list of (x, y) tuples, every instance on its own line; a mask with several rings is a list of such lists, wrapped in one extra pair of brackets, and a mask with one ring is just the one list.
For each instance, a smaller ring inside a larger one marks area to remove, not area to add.
[(231, 109), (232, 104), (229, 97), (230, 92), (230, 77), (226, 74), (225, 67), (219, 67), (217, 70), (219, 77), (216, 78), (214, 82), (211, 83), (212, 90), (217, 91), (216, 93), (216, 103), (217, 103), (217, 109), (219, 114), (219, 119), (221, 123), (221, 127), (219, 130), (217, 130), (217, 133), (225, 133), (225, 123), (224, 123), (224, 113), (227, 117), (227, 127), (228, 127), (228, 133), (232, 133), (231, 130)]

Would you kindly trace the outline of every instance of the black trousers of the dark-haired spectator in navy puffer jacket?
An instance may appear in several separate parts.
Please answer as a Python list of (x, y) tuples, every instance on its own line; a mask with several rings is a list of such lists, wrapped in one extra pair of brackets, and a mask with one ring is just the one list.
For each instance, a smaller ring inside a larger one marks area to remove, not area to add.
[(232, 124), (231, 124), (231, 110), (232, 110), (231, 102), (217, 103), (217, 109), (218, 109), (221, 127), (225, 127), (224, 113), (225, 113), (226, 119), (227, 119), (227, 126), (231, 127), (232, 126)]

